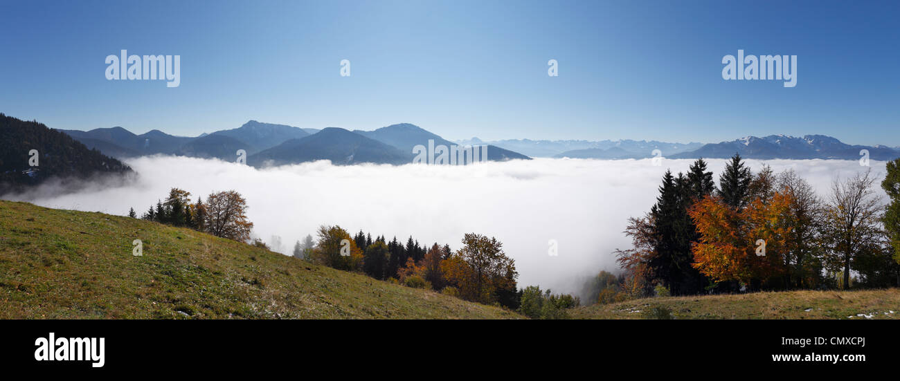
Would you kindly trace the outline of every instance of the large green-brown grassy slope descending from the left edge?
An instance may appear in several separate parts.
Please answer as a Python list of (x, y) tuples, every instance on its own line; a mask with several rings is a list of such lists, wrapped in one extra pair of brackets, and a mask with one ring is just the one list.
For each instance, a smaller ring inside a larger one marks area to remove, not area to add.
[(190, 229), (0, 200), (0, 318), (187, 317), (519, 315)]

